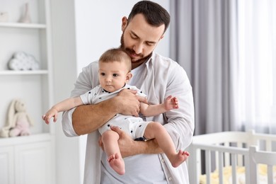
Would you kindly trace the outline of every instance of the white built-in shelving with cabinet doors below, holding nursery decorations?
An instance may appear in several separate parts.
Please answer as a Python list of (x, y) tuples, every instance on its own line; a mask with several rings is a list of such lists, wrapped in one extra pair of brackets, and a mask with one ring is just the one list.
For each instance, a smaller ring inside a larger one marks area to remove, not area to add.
[[(31, 23), (18, 23), (25, 2)], [(55, 183), (54, 126), (41, 118), (53, 100), (50, 0), (1, 0), (0, 13), (4, 11), (8, 21), (0, 22), (0, 128), (14, 98), (25, 101), (35, 125), (30, 136), (0, 138), (0, 183)], [(9, 70), (8, 61), (16, 52), (32, 54), (40, 69)]]

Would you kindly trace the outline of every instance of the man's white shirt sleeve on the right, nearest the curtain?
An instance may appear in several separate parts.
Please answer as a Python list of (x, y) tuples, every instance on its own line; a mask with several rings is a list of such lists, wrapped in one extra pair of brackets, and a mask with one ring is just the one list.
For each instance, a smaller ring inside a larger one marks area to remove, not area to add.
[(178, 98), (179, 108), (166, 112), (168, 123), (164, 125), (171, 135), (176, 149), (186, 149), (192, 142), (195, 129), (195, 113), (192, 86), (185, 70), (176, 64), (171, 68), (166, 88), (166, 95)]

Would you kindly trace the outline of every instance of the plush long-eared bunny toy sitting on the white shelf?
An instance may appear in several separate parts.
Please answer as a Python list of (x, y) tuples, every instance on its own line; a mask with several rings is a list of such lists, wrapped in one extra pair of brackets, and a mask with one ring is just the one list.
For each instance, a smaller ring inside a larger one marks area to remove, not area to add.
[(26, 113), (25, 103), (21, 99), (14, 99), (8, 110), (6, 127), (0, 131), (1, 137), (16, 137), (30, 134), (30, 126), (33, 120)]

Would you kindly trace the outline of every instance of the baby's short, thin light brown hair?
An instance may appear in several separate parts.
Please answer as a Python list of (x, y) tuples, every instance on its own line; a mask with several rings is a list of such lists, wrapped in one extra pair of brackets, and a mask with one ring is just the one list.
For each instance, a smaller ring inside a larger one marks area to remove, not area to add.
[(121, 48), (113, 48), (105, 51), (100, 56), (99, 62), (124, 62), (129, 71), (132, 69), (132, 60), (130, 56)]

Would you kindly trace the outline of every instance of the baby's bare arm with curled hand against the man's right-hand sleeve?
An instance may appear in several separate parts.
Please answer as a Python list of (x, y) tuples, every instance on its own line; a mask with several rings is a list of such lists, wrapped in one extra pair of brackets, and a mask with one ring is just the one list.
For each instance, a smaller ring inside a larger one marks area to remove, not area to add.
[(145, 116), (154, 116), (161, 113), (165, 113), (168, 110), (178, 108), (178, 99), (173, 96), (168, 96), (164, 103), (158, 105), (148, 105), (146, 103), (140, 103), (140, 112)]

